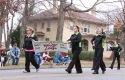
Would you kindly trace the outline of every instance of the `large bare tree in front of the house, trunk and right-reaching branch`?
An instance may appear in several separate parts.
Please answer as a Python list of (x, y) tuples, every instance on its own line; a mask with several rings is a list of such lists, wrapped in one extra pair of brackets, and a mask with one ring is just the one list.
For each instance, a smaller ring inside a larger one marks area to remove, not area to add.
[[(57, 34), (56, 40), (62, 40), (63, 36), (63, 26), (64, 26), (64, 20), (65, 20), (65, 12), (67, 11), (73, 11), (73, 12), (89, 12), (91, 9), (93, 9), (96, 5), (99, 5), (100, 3), (103, 3), (105, 0), (96, 0), (96, 2), (86, 10), (78, 10), (74, 8), (70, 8), (70, 6), (73, 5), (73, 0), (71, 0), (71, 3), (69, 5), (66, 5), (67, 0), (60, 0), (60, 8), (59, 8), (59, 20), (58, 20), (58, 28), (57, 28)], [(81, 0), (80, 0), (81, 1)], [(82, 1), (81, 1), (82, 3)], [(82, 3), (83, 4), (83, 3)], [(84, 4), (83, 4), (84, 6)]]

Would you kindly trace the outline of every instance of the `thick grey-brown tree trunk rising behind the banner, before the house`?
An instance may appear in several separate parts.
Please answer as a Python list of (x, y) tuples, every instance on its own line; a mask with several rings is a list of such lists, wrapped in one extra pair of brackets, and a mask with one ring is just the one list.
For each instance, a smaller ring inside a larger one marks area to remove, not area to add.
[(56, 40), (57, 41), (62, 41), (63, 26), (64, 26), (64, 20), (65, 20), (65, 11), (64, 11), (65, 4), (66, 4), (66, 0), (61, 0), (60, 1), (60, 9), (59, 9), (59, 17), (58, 17), (58, 28), (57, 28), (57, 34), (56, 34)]

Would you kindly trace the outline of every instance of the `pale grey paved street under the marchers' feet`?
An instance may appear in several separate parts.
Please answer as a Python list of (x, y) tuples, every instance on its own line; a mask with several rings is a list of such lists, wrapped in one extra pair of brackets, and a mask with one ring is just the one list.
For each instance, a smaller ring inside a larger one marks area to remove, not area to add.
[(76, 74), (75, 69), (71, 74), (65, 72), (65, 68), (45, 68), (36, 72), (23, 73), (23, 69), (0, 70), (0, 80), (125, 80), (125, 68), (113, 70), (107, 68), (105, 74), (92, 74), (91, 68), (82, 68), (82, 74)]

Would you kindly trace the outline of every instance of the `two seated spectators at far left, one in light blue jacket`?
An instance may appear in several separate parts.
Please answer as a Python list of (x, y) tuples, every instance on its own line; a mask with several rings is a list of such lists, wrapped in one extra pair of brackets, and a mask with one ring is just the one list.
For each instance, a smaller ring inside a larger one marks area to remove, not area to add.
[(13, 47), (10, 51), (6, 51), (3, 45), (0, 46), (0, 60), (2, 62), (1, 66), (5, 66), (8, 61), (8, 57), (12, 59), (12, 65), (18, 65), (19, 57), (20, 57), (20, 49), (17, 47), (17, 44), (14, 43)]

